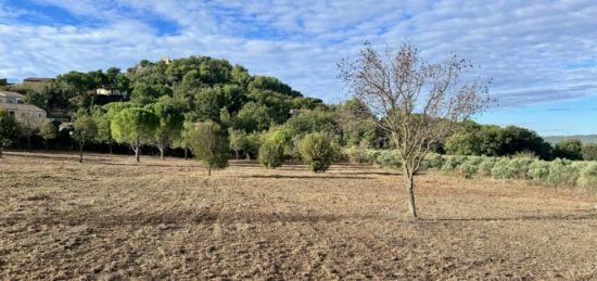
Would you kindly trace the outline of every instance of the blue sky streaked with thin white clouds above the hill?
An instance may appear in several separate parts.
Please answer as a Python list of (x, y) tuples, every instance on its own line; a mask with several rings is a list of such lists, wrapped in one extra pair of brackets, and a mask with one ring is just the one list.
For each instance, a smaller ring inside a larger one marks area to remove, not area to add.
[(479, 65), (498, 100), (480, 123), (597, 133), (594, 0), (0, 0), (0, 78), (12, 81), (195, 54), (338, 103), (336, 63), (366, 41)]

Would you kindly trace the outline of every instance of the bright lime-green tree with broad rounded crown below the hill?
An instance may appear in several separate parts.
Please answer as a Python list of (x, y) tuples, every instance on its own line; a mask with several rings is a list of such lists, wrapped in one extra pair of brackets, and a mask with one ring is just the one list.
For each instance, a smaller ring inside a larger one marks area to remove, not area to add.
[(158, 124), (160, 119), (153, 112), (129, 107), (114, 116), (110, 128), (112, 138), (118, 143), (128, 143), (135, 151), (135, 158), (140, 162), (141, 145), (153, 138)]

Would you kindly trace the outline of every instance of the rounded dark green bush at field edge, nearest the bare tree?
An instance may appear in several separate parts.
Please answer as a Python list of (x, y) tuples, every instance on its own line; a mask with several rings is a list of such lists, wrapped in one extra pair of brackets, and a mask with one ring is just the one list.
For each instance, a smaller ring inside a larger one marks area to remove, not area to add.
[(321, 132), (306, 135), (298, 143), (301, 157), (315, 173), (328, 170), (333, 158), (330, 139)]

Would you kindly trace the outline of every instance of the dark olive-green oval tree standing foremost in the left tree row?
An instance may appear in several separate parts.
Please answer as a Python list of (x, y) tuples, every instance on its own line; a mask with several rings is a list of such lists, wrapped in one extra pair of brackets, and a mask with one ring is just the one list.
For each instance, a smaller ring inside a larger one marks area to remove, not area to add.
[(228, 166), (228, 138), (226, 131), (213, 122), (200, 123), (189, 135), (189, 146), (195, 157), (207, 166), (207, 175), (212, 169), (223, 169)]

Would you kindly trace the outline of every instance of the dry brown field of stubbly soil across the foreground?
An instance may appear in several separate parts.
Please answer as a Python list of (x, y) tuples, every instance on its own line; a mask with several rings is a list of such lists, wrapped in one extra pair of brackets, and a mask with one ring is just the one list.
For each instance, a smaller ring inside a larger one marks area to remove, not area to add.
[(597, 280), (597, 200), (394, 170), (7, 153), (0, 279)]

